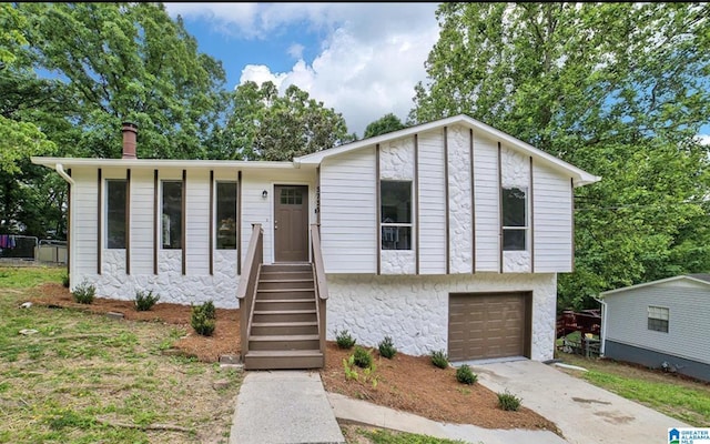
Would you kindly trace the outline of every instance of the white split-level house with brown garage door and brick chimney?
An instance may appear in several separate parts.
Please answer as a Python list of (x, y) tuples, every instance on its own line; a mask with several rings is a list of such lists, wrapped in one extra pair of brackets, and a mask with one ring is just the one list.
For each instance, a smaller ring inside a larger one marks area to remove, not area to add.
[(292, 162), (134, 159), (135, 131), (124, 159), (32, 159), (71, 183), (72, 289), (236, 307), (252, 225), (268, 264), (311, 260), (320, 224), (328, 339), (552, 357), (574, 189), (599, 178), (467, 115)]

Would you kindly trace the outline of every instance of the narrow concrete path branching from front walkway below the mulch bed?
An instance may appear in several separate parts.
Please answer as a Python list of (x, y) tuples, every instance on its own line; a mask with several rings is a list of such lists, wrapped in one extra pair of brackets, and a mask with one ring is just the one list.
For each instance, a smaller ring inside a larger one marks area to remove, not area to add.
[(491, 430), (469, 424), (447, 424), (406, 412), (383, 407), (365, 401), (353, 400), (337, 393), (327, 393), (328, 401), (339, 420), (400, 432), (418, 433), (466, 443), (485, 444), (565, 444), (552, 432), (529, 430)]

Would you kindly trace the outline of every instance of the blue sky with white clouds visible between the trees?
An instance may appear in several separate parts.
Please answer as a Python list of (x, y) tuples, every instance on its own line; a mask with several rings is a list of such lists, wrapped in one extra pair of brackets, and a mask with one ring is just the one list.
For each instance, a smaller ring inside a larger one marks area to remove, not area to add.
[[(296, 84), (363, 135), (392, 112), (402, 121), (438, 38), (439, 3), (165, 3), (200, 50), (222, 61), (227, 88)], [(710, 144), (710, 124), (701, 130)]]

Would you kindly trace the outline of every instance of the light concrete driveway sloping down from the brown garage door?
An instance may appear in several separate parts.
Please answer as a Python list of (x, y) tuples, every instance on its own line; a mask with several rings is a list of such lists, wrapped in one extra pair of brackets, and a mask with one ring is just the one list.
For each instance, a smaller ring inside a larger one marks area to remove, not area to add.
[(555, 422), (570, 444), (666, 443), (669, 427), (689, 427), (651, 408), (536, 361), (473, 363), (478, 382), (506, 389), (523, 405)]

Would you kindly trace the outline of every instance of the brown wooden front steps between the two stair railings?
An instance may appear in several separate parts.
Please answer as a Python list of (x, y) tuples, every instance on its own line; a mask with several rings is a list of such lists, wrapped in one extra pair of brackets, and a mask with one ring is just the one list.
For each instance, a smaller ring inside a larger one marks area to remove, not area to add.
[(324, 365), (313, 264), (260, 265), (245, 370)]

